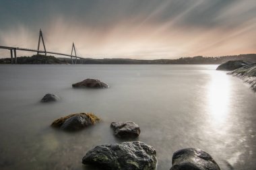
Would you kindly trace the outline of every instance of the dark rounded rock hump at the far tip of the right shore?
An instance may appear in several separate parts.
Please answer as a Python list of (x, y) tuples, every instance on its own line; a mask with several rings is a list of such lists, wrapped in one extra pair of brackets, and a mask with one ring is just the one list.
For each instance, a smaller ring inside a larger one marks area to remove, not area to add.
[(229, 60), (222, 65), (219, 65), (216, 70), (218, 71), (233, 71), (245, 65), (249, 65), (251, 62), (245, 62), (243, 60)]

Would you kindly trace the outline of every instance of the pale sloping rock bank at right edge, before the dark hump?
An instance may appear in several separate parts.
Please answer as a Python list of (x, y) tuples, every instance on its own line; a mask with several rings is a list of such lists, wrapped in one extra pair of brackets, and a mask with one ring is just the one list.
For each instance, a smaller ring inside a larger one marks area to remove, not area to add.
[(233, 75), (243, 79), (246, 83), (251, 85), (251, 89), (253, 89), (253, 91), (256, 91), (256, 63), (230, 71), (228, 75)]

